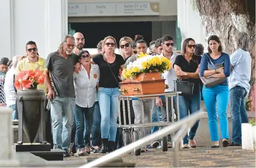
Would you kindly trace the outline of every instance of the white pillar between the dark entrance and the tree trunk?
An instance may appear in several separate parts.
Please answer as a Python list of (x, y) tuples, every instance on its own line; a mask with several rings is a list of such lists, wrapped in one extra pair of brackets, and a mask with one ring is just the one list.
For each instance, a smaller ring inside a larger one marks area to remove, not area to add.
[(178, 27), (181, 29), (182, 41), (193, 38), (195, 43), (202, 43), (207, 51), (204, 28), (199, 13), (195, 11), (190, 0), (177, 1)]

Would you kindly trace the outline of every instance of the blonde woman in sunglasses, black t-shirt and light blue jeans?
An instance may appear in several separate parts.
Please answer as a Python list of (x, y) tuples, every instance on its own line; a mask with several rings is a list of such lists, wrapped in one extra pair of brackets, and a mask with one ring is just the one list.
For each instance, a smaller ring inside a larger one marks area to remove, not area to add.
[(116, 121), (118, 119), (119, 69), (123, 70), (125, 60), (114, 53), (116, 39), (107, 36), (102, 42), (104, 54), (95, 55), (92, 64), (99, 65), (101, 78), (99, 79), (99, 106), (101, 109), (101, 153), (114, 150), (116, 140)]

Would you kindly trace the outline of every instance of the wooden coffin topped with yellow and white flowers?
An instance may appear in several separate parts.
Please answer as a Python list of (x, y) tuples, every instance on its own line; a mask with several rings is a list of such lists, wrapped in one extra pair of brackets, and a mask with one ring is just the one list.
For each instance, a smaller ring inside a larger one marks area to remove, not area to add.
[(127, 96), (162, 93), (166, 86), (161, 74), (169, 69), (171, 61), (166, 57), (140, 53), (137, 60), (123, 69), (119, 91)]

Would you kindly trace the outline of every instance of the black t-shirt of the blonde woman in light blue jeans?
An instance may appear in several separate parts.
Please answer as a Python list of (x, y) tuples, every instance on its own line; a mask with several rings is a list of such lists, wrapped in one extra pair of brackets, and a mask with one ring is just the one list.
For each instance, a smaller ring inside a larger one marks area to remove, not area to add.
[(118, 80), (118, 82), (121, 82), (118, 76), (119, 76), (120, 66), (125, 64), (125, 60), (123, 59), (123, 57), (119, 54), (116, 54), (116, 59), (114, 60), (114, 62), (109, 64), (116, 79), (114, 79), (114, 76), (111, 73), (111, 70), (109, 69), (109, 65), (107, 65), (107, 62), (104, 60), (103, 55), (95, 55), (92, 58), (92, 60), (94, 60), (95, 64), (99, 65), (100, 75), (101, 75), (99, 79), (99, 87), (106, 87), (106, 88), (118, 87), (118, 83), (116, 82), (116, 79)]

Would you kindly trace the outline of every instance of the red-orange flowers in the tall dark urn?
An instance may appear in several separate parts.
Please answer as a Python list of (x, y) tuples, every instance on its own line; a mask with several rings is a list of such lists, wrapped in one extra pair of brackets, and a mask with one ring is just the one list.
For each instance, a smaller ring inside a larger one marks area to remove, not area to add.
[(44, 70), (21, 70), (15, 76), (16, 89), (35, 88), (38, 84), (44, 84)]

